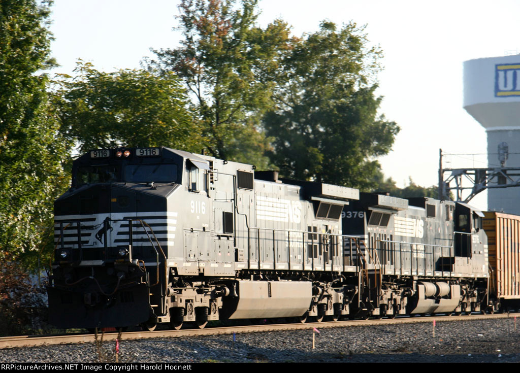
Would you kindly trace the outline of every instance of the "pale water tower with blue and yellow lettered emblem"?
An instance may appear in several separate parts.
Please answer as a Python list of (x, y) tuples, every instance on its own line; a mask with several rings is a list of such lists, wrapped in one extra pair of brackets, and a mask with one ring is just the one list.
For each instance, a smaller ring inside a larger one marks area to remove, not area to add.
[[(520, 167), (520, 55), (465, 61), (463, 106), (486, 128), (488, 167)], [(489, 189), (488, 209), (520, 215), (520, 187)]]

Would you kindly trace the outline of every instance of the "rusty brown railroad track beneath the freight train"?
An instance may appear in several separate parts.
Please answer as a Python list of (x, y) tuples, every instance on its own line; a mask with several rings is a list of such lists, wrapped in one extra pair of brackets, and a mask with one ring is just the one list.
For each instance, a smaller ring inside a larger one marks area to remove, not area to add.
[[(345, 326), (369, 326), (369, 325), (387, 325), (387, 324), (409, 324), (409, 323), (431, 323), (435, 321), (460, 321), (460, 320), (477, 320), (488, 318), (512, 318), (520, 317), (520, 313), (502, 313), (493, 315), (464, 315), (464, 316), (414, 316), (399, 318), (384, 318), (370, 320), (353, 320), (353, 321), (336, 321), (322, 323), (305, 323), (305, 324), (264, 324), (264, 325), (244, 325), (244, 326), (223, 326), (209, 327), (205, 329), (184, 329), (184, 330), (156, 330), (156, 331), (128, 331), (124, 332), (122, 339), (146, 339), (146, 338), (172, 338), (172, 337), (194, 337), (205, 335), (232, 334), (232, 333), (249, 333), (261, 331), (277, 331), (277, 330), (298, 330), (316, 328), (337, 328)], [(118, 337), (117, 332), (106, 332), (103, 340), (111, 341)], [(49, 344), (63, 343), (85, 343), (94, 342), (93, 334), (66, 334), (53, 336), (17, 336), (0, 338), (0, 348), (16, 348), (30, 347)]]

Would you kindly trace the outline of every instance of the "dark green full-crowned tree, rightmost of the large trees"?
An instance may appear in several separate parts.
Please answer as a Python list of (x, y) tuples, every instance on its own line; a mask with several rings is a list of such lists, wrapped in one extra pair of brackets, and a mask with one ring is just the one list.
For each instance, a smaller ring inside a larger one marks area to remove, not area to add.
[(277, 76), (277, 106), (264, 117), (271, 161), (285, 177), (367, 189), (399, 127), (377, 112), (378, 48), (355, 23), (293, 39)]

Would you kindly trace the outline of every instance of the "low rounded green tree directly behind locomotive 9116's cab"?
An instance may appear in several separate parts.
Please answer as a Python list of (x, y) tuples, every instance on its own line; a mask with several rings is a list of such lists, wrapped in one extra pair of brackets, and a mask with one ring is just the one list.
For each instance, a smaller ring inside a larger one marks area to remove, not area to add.
[(200, 152), (201, 130), (187, 109), (184, 88), (172, 73), (97, 71), (79, 62), (62, 75), (56, 105), (63, 136), (80, 152), (117, 146), (160, 146)]

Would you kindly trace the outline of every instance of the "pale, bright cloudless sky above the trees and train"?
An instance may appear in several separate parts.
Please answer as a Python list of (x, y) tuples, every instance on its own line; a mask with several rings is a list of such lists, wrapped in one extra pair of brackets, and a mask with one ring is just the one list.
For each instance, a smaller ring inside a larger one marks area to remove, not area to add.
[[(54, 73), (73, 75), (76, 60), (97, 70), (139, 68), (150, 48), (174, 48), (181, 35), (178, 0), (55, 0), (51, 19)], [(439, 149), (446, 167), (487, 167), (486, 132), (462, 108), (462, 64), (520, 50), (520, 2), (457, 0), (260, 0), (259, 24), (281, 18), (294, 35), (317, 31), (323, 20), (366, 25), (383, 50), (378, 76), (380, 114), (401, 128), (392, 152), (379, 158), (399, 187), (410, 178), (436, 185)], [(518, 52), (518, 51), (517, 51)], [(165, 144), (167, 145), (167, 144)], [(471, 204), (486, 209), (481, 193)]]

